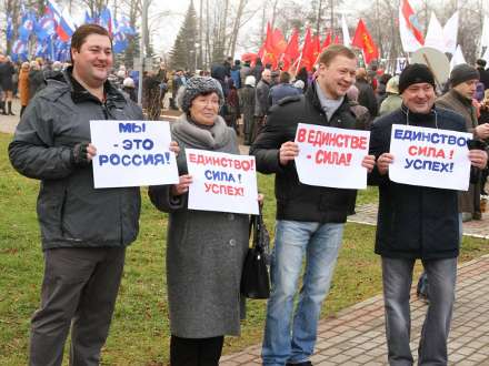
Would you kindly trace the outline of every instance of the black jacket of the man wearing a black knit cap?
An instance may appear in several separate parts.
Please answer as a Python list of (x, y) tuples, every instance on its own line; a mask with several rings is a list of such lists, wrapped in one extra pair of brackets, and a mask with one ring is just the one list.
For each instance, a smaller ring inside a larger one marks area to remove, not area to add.
[[(392, 124), (406, 124), (406, 106), (372, 124), (370, 154), (390, 151)], [(439, 129), (466, 132), (461, 115), (436, 108)], [(409, 113), (409, 124), (436, 128), (435, 113)], [(380, 175), (377, 166), (369, 184), (379, 186), (376, 253), (392, 258), (451, 258), (459, 254), (457, 191), (399, 184)]]

